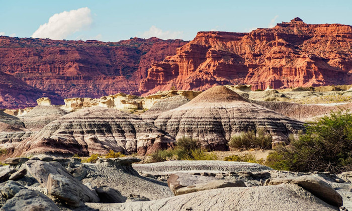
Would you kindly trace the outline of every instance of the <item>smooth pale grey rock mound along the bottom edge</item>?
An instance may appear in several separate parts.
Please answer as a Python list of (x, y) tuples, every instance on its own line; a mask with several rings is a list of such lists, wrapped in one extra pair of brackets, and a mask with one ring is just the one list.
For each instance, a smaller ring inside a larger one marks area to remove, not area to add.
[(101, 211), (122, 210), (336, 210), (293, 184), (256, 187), (226, 187), (153, 201), (114, 204), (86, 203)]

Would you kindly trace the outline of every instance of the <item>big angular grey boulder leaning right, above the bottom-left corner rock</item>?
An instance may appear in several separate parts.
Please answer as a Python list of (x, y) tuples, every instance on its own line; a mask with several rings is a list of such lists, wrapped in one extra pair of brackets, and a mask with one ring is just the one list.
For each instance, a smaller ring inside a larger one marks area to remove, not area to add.
[(84, 202), (99, 202), (99, 197), (78, 180), (60, 174), (49, 174), (46, 186), (49, 195), (67, 205), (78, 207)]

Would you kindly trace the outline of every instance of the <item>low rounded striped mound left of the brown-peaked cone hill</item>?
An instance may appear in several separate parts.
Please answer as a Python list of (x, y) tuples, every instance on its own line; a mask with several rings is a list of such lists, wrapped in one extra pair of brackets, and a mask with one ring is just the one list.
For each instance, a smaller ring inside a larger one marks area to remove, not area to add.
[[(30, 126), (35, 126), (30, 116), (25, 120)], [(93, 153), (107, 154), (109, 150), (124, 154), (146, 154), (172, 143), (172, 138), (138, 116), (116, 109), (94, 107), (64, 115), (22, 142), (4, 143), (1, 147), (14, 156), (87, 156)]]

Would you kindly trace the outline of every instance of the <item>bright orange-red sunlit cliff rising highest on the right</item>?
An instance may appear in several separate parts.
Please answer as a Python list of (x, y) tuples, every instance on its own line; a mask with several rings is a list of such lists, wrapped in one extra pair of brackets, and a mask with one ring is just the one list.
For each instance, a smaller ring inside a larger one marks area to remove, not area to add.
[(214, 85), (253, 89), (352, 83), (352, 27), (305, 24), (295, 18), (250, 33), (199, 32), (148, 70), (139, 90), (150, 94)]

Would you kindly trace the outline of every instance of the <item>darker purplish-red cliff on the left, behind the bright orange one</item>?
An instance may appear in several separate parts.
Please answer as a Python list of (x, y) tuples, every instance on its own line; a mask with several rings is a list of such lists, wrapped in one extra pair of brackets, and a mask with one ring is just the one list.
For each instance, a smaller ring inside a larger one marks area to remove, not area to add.
[(182, 40), (133, 38), (120, 42), (65, 41), (0, 36), (0, 108), (54, 104), (68, 97), (137, 93), (147, 69)]

